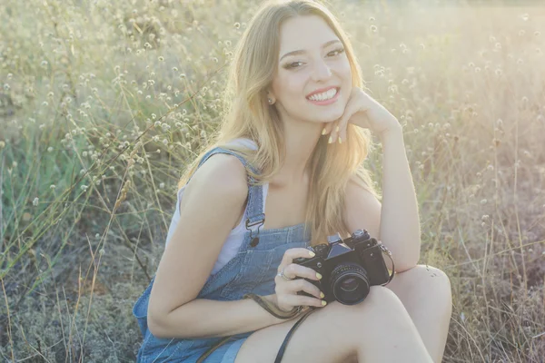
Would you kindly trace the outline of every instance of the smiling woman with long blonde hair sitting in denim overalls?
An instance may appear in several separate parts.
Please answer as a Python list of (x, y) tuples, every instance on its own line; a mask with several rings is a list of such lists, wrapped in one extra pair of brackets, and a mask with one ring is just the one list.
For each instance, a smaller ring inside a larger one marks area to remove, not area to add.
[[(315, 309), (284, 363), (441, 361), (449, 279), (417, 265), (420, 221), (401, 125), (362, 90), (334, 16), (311, 0), (264, 3), (227, 84), (229, 112), (180, 181), (163, 257), (134, 306), (139, 361), (272, 362), (299, 315), (279, 319), (248, 293), (281, 311)], [(382, 144), (382, 204), (362, 167), (369, 132)], [(304, 280), (320, 276), (292, 261), (358, 229), (391, 250), (396, 276), (359, 304), (324, 305)]]

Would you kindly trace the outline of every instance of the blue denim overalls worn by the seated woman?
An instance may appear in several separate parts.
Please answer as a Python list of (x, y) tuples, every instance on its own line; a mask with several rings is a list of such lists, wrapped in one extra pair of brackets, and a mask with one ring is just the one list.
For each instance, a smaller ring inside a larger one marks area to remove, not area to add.
[[(247, 168), (252, 168), (241, 155), (216, 147), (204, 154), (199, 167), (215, 153), (236, 156)], [(252, 169), (254, 171), (254, 169)], [(244, 217), (248, 231), (235, 255), (221, 270), (209, 276), (197, 299), (237, 300), (253, 292), (258, 295), (274, 293), (274, 277), (285, 250), (307, 247), (311, 242), (310, 226), (305, 223), (282, 228), (261, 230), (264, 222), (262, 186), (252, 186), (253, 178), (248, 177), (248, 201)], [(286, 208), (289, 208), (286, 206)], [(254, 239), (258, 237), (259, 240)], [(136, 301), (133, 314), (144, 335), (144, 342), (138, 350), (138, 362), (188, 362), (194, 363), (204, 351), (221, 342), (223, 338), (155, 338), (147, 329), (147, 308), (154, 279)], [(206, 319), (206, 316), (201, 317)], [(238, 334), (203, 360), (206, 363), (233, 363), (244, 340), (253, 332)]]

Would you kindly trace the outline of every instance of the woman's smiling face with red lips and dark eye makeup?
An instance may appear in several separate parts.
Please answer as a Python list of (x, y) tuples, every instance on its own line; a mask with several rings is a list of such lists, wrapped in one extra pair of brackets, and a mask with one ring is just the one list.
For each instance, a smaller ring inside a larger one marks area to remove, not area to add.
[[(332, 88), (332, 96), (309, 95)], [(274, 105), (282, 118), (329, 123), (342, 116), (352, 90), (352, 72), (344, 46), (318, 15), (291, 18), (280, 30), (277, 73), (272, 80)], [(332, 97), (331, 100), (327, 100)]]

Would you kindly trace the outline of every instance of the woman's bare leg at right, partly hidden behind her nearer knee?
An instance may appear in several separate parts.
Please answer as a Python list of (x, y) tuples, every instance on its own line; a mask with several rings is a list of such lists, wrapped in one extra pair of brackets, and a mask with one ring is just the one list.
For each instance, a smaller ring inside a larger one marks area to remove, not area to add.
[(431, 266), (418, 265), (396, 274), (386, 285), (401, 299), (434, 362), (441, 362), (451, 321), (451, 283)]

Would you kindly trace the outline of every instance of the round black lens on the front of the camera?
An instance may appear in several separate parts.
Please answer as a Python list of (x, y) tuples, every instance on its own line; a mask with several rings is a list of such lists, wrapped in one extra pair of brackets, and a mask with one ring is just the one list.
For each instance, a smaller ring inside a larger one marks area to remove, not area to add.
[(344, 305), (361, 302), (369, 294), (367, 272), (355, 263), (342, 263), (332, 270), (331, 290), (337, 301)]

